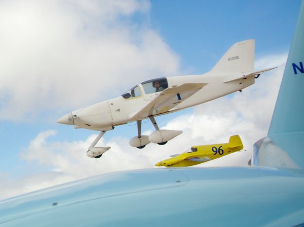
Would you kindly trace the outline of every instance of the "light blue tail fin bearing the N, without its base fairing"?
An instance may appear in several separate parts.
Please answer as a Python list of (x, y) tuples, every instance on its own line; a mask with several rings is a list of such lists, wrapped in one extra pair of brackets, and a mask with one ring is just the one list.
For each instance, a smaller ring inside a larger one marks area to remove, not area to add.
[(304, 131), (304, 2), (292, 40), (269, 136)]

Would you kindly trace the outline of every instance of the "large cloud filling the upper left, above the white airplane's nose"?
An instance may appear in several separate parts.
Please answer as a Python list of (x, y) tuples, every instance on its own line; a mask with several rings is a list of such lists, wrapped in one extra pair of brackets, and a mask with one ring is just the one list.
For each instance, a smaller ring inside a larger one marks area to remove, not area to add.
[(149, 7), (145, 0), (1, 1), (0, 120), (62, 114), (135, 81), (176, 74), (179, 59), (149, 28)]

